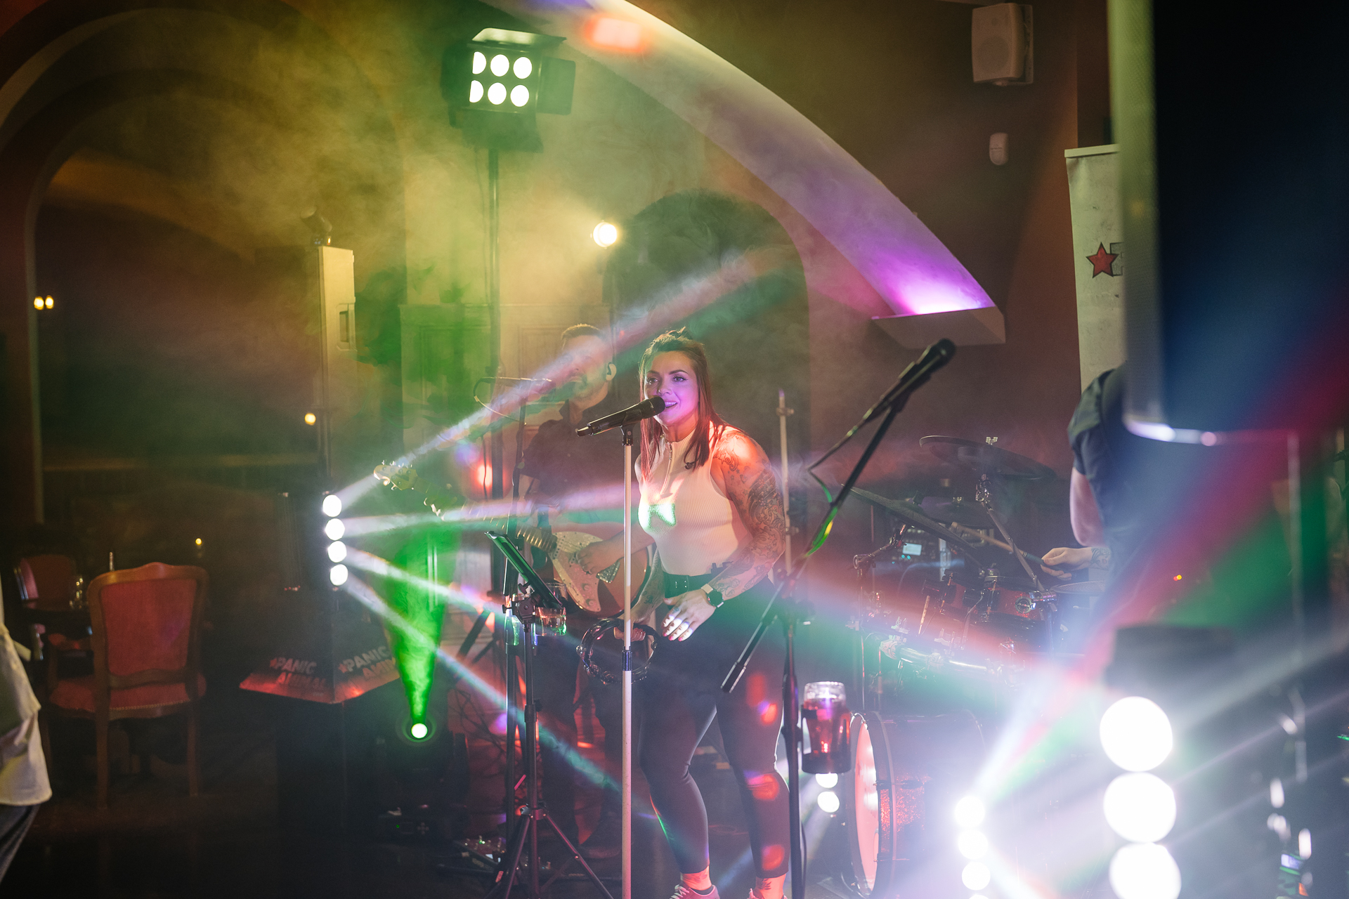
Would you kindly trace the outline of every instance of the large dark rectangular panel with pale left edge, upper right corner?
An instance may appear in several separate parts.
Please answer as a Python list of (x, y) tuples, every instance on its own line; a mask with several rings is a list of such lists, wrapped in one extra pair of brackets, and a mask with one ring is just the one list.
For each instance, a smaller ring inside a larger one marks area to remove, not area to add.
[(1344, 4), (1112, 0), (1135, 433), (1211, 443), (1342, 400), (1345, 34)]

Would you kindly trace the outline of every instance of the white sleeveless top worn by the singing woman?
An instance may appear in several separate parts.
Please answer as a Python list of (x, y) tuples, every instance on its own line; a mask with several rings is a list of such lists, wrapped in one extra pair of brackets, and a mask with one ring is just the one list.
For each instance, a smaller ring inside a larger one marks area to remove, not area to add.
[[(735, 429), (726, 427), (723, 439), (731, 433)], [(670, 574), (707, 574), (749, 540), (735, 505), (712, 480), (711, 460), (692, 470), (684, 468), (692, 441), (693, 434), (673, 446), (662, 439), (650, 478), (641, 477), (641, 466), (637, 470), (642, 491), (638, 520), (656, 540), (661, 567)]]

